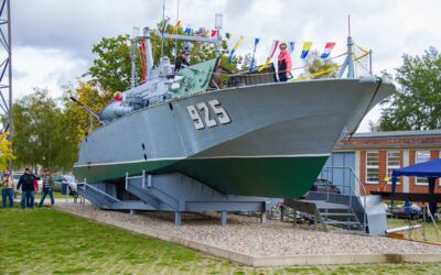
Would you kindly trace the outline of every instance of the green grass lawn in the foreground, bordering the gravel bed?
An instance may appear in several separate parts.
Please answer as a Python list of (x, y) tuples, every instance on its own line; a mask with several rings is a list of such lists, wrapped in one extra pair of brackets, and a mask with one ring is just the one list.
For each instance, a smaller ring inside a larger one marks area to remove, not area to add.
[(47, 208), (0, 210), (0, 274), (440, 274), (441, 264), (252, 268)]

